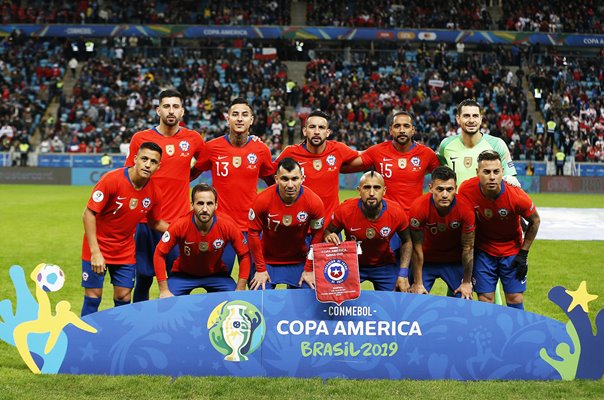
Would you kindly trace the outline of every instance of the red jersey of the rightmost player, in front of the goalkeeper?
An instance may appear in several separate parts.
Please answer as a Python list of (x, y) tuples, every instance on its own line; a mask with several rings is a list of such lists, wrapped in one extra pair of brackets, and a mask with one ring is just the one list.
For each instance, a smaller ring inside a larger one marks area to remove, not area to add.
[(488, 199), (480, 190), (478, 177), (464, 181), (459, 196), (474, 207), (476, 213), (476, 247), (495, 256), (517, 254), (522, 246), (520, 217), (528, 218), (535, 205), (522, 189), (501, 182), (501, 193)]

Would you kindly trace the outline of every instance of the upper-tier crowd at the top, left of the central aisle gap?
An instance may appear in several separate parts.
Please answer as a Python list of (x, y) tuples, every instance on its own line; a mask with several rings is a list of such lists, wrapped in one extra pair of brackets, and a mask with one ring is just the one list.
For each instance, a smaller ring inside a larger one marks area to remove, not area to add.
[(32, 0), (0, 2), (4, 24), (287, 25), (289, 0)]

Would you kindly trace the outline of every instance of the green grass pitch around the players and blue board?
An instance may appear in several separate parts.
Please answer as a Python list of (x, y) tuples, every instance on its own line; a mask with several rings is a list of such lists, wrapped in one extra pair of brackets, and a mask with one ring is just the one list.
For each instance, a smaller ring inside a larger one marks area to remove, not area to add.
[[(79, 312), (80, 255), (83, 238), (82, 212), (90, 187), (0, 185), (0, 300), (14, 299), (8, 268), (13, 264), (31, 270), (39, 262), (60, 265), (67, 280), (63, 289), (50, 295), (51, 302), (69, 301)], [(342, 198), (356, 196), (342, 191)], [(603, 195), (536, 194), (541, 207), (601, 207)], [(590, 317), (604, 307), (602, 242), (537, 240), (529, 256), (527, 311), (566, 321), (547, 299), (552, 286), (575, 290), (583, 280), (588, 291), (600, 296), (589, 304)], [(157, 297), (154, 285), (151, 296)], [(31, 283), (33, 288), (33, 283)], [(370, 288), (371, 285), (364, 286)], [(434, 288), (444, 294), (444, 285)], [(111, 307), (110, 287), (105, 288), (101, 309)], [(457, 396), (500, 398), (583, 399), (604, 398), (602, 381), (574, 382), (452, 382), (452, 381), (348, 381), (334, 379), (179, 378), (33, 376), (16, 349), (0, 343), (0, 399), (42, 398), (401, 398), (440, 399)], [(604, 362), (604, 361), (603, 361)], [(144, 389), (143, 389), (144, 388)]]

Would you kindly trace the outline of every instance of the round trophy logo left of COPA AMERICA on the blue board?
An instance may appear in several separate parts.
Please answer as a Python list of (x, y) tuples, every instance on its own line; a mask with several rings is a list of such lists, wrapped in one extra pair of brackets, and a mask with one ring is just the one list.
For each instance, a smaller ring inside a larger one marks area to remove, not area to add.
[(260, 311), (245, 301), (222, 302), (208, 318), (210, 342), (226, 361), (247, 361), (264, 339), (266, 326)]

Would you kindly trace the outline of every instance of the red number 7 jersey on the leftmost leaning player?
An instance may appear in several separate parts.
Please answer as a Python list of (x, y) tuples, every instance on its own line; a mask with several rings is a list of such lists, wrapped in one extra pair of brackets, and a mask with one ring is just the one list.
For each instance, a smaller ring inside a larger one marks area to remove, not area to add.
[[(140, 190), (135, 190), (128, 168), (103, 175), (92, 190), (86, 207), (96, 212), (96, 235), (107, 264), (134, 264), (136, 225), (148, 217), (160, 219), (161, 196), (155, 175)], [(82, 260), (90, 261), (90, 246), (84, 234)]]

